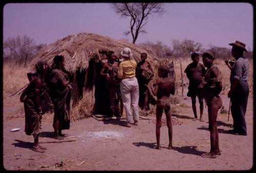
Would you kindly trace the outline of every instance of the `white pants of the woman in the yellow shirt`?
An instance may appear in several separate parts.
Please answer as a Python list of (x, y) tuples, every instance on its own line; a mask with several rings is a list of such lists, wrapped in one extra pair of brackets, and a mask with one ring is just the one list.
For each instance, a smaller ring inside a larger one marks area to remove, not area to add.
[[(139, 85), (136, 77), (123, 79), (120, 83), (123, 106), (125, 109), (126, 122), (139, 121)], [(131, 105), (133, 109), (133, 118)]]

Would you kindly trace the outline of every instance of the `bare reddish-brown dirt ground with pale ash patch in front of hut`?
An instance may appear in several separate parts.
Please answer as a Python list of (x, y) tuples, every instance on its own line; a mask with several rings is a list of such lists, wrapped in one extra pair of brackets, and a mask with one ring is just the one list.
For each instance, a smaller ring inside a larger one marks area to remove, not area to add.
[[(161, 150), (156, 146), (155, 120), (140, 120), (138, 126), (124, 127), (125, 120), (98, 121), (92, 117), (73, 121), (63, 131), (66, 139), (53, 139), (52, 118), (43, 117), (39, 142), (48, 149), (33, 152), (33, 137), (24, 132), (23, 103), (4, 93), (3, 165), (7, 170), (248, 170), (253, 165), (253, 98), (246, 113), (247, 136), (228, 134), (229, 99), (221, 95), (225, 114), (218, 114), (221, 156), (206, 159), (210, 150), (207, 107), (205, 122), (192, 121), (190, 98), (176, 96), (173, 105), (173, 150), (167, 149), (167, 126), (161, 127)], [(154, 110), (154, 106), (151, 106)], [(197, 102), (199, 114), (199, 103)], [(154, 118), (155, 115), (148, 115)], [(163, 118), (165, 116), (163, 115)], [(175, 123), (177, 122), (177, 123)], [(180, 125), (179, 125), (180, 124)], [(17, 132), (11, 128), (20, 127)], [(66, 142), (65, 142), (66, 141)]]

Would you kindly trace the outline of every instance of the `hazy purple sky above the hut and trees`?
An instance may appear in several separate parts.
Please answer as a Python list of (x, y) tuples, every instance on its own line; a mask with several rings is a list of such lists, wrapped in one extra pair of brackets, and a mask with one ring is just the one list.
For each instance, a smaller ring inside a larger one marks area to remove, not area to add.
[[(209, 44), (230, 48), (240, 40), (253, 48), (253, 7), (248, 3), (165, 3), (162, 16), (151, 16), (147, 34), (136, 43), (191, 39), (208, 48)], [(36, 44), (51, 44), (75, 33), (96, 33), (131, 41), (129, 18), (115, 14), (108, 3), (84, 4), (7, 4), (4, 7), (4, 40), (27, 35)]]

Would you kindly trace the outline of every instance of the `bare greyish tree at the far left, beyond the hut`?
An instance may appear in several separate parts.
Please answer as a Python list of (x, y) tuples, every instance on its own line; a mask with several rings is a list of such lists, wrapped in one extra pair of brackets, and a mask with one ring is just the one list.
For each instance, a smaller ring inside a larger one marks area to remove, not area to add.
[(33, 39), (28, 36), (17, 36), (4, 41), (4, 57), (8, 60), (15, 60), (19, 63), (30, 60), (42, 45), (35, 46)]

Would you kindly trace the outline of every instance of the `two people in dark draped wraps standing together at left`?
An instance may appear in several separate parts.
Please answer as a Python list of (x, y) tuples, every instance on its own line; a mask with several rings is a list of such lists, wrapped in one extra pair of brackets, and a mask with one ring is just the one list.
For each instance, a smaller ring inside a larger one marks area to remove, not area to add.
[(20, 95), (24, 103), (25, 133), (33, 135), (32, 150), (44, 153), (47, 149), (39, 145), (42, 114), (54, 109), (54, 138), (63, 139), (63, 129), (70, 128), (70, 99), (72, 85), (68, 72), (64, 68), (65, 58), (57, 55), (49, 67), (46, 61), (38, 61), (36, 71), (28, 73), (29, 85)]

